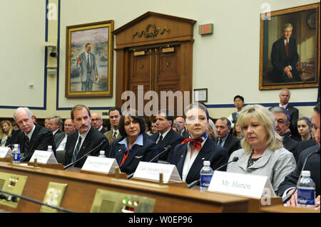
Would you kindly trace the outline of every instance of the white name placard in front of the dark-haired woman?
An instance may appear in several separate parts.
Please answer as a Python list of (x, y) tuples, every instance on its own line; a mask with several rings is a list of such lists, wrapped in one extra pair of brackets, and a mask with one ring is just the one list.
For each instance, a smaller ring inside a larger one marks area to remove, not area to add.
[(88, 156), (81, 169), (109, 174), (114, 173), (116, 167), (118, 167), (116, 159)]

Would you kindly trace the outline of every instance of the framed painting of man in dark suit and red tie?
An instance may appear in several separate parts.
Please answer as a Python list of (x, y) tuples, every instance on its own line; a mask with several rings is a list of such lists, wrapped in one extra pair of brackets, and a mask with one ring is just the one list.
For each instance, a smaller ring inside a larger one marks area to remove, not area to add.
[(315, 88), (320, 80), (320, 3), (261, 14), (260, 90)]

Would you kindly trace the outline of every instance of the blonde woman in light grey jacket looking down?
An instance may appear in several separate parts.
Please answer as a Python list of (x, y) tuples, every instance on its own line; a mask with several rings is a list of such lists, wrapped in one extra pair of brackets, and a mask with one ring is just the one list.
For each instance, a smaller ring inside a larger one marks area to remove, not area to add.
[(262, 105), (247, 105), (240, 112), (238, 124), (243, 130), (242, 149), (231, 154), (228, 172), (267, 176), (277, 191), (287, 174), (296, 167), (293, 154), (282, 147), (282, 138), (275, 132), (275, 120)]

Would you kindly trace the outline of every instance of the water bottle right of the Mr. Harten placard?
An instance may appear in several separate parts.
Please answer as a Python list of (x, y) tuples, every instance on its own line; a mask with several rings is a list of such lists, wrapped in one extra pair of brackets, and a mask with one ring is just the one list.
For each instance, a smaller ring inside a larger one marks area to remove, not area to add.
[(310, 178), (310, 171), (302, 171), (297, 182), (297, 207), (315, 208), (315, 182)]

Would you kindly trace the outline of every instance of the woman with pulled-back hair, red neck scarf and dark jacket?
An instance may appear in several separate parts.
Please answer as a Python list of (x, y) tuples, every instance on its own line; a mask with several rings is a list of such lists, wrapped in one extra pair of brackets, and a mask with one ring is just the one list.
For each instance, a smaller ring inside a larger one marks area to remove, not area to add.
[(204, 105), (199, 102), (190, 104), (185, 109), (185, 116), (190, 138), (175, 147), (171, 164), (175, 164), (181, 179), (190, 184), (200, 179), (204, 161), (210, 161), (210, 167), (217, 169), (228, 162), (228, 152), (208, 137), (209, 116)]

